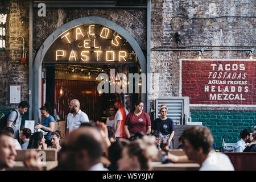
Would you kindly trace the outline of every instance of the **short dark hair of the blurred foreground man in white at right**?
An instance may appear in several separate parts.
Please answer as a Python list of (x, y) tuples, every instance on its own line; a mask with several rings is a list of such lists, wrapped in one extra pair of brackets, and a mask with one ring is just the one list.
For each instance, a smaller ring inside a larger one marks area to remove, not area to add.
[(195, 150), (203, 148), (203, 153), (208, 154), (213, 146), (213, 136), (208, 127), (191, 126), (183, 131), (181, 137), (187, 139)]

